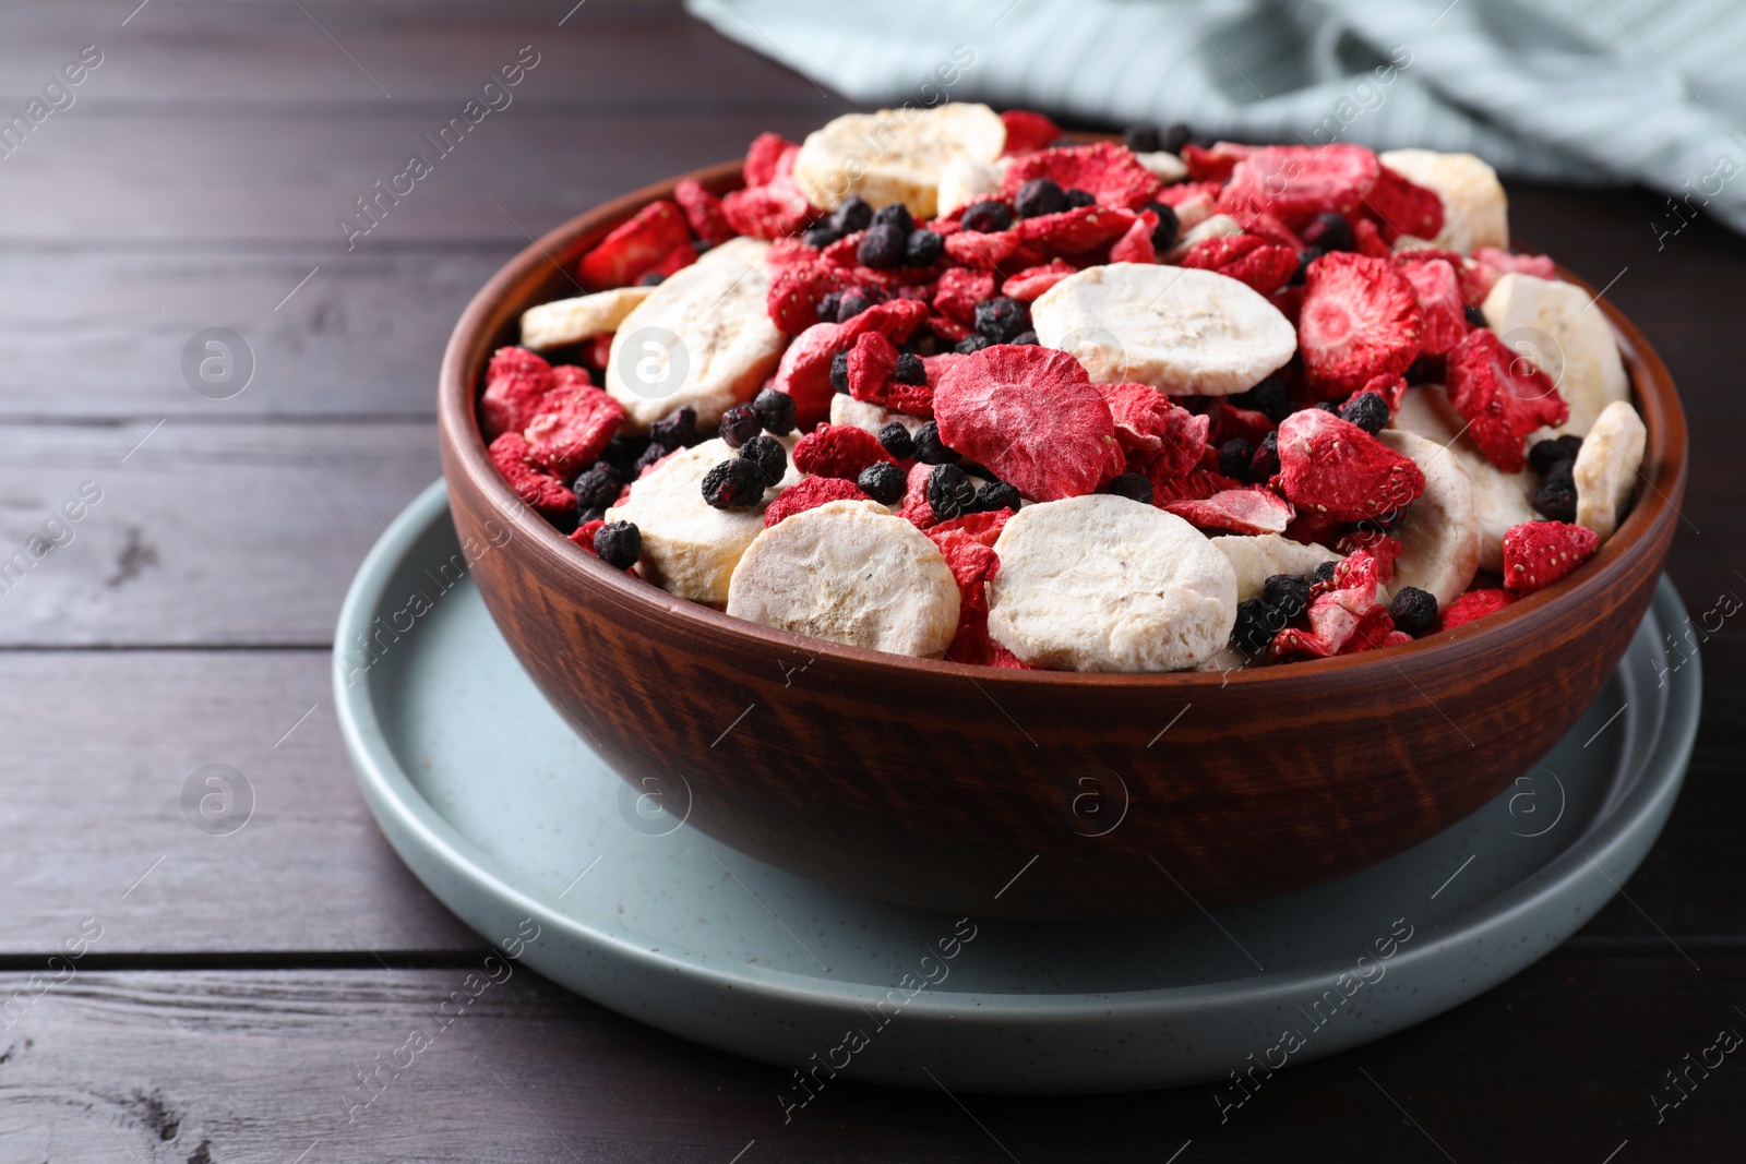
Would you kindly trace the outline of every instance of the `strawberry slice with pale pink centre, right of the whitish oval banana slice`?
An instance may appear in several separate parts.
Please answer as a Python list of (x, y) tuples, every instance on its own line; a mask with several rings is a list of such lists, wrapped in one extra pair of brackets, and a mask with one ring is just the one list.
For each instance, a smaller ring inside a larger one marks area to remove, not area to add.
[(1418, 293), (1388, 260), (1334, 251), (1310, 264), (1297, 347), (1310, 387), (1322, 396), (1406, 372), (1421, 328)]

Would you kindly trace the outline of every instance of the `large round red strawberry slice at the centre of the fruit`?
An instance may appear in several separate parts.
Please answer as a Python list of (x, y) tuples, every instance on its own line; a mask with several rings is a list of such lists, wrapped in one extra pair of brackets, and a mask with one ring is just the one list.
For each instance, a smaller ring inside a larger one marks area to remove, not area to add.
[(1116, 422), (1084, 366), (1049, 347), (985, 347), (934, 387), (939, 440), (1020, 494), (1060, 501), (1121, 471)]

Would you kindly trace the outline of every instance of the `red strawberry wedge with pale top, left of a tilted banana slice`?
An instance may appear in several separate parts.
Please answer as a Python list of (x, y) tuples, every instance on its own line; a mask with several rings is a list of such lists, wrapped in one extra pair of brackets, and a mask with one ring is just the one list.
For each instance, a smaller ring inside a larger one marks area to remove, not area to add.
[(1357, 522), (1411, 504), (1425, 473), (1357, 424), (1304, 408), (1280, 422), (1275, 485), (1299, 510)]

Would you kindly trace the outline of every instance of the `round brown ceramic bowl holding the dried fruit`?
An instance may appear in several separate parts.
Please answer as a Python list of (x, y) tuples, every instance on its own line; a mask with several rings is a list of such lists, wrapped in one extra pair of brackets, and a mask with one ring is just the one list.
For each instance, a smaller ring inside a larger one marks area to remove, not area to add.
[[(739, 185), (739, 164), (690, 175)], [(677, 181), (677, 180), (676, 180)], [(1112, 918), (1327, 881), (1449, 827), (1528, 771), (1619, 665), (1685, 490), (1685, 417), (1612, 305), (1648, 426), (1636, 506), (1571, 578), (1367, 654), (1219, 674), (959, 667), (768, 630), (616, 572), (498, 478), (475, 419), (522, 309), (651, 185), (573, 218), (468, 305), (438, 422), (456, 529), (515, 531), (475, 578), (522, 665), (690, 825), (856, 894), (952, 913)]]

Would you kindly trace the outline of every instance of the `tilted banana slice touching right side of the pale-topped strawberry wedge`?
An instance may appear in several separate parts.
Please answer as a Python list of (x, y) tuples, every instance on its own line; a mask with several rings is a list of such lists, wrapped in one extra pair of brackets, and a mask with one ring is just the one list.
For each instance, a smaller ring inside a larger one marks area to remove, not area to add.
[(1378, 438), (1425, 473), (1425, 492), (1407, 506), (1395, 537), (1393, 588), (1418, 586), (1447, 609), (1479, 571), (1479, 508), (1474, 482), (1461, 462), (1442, 445), (1416, 433), (1383, 429)]

